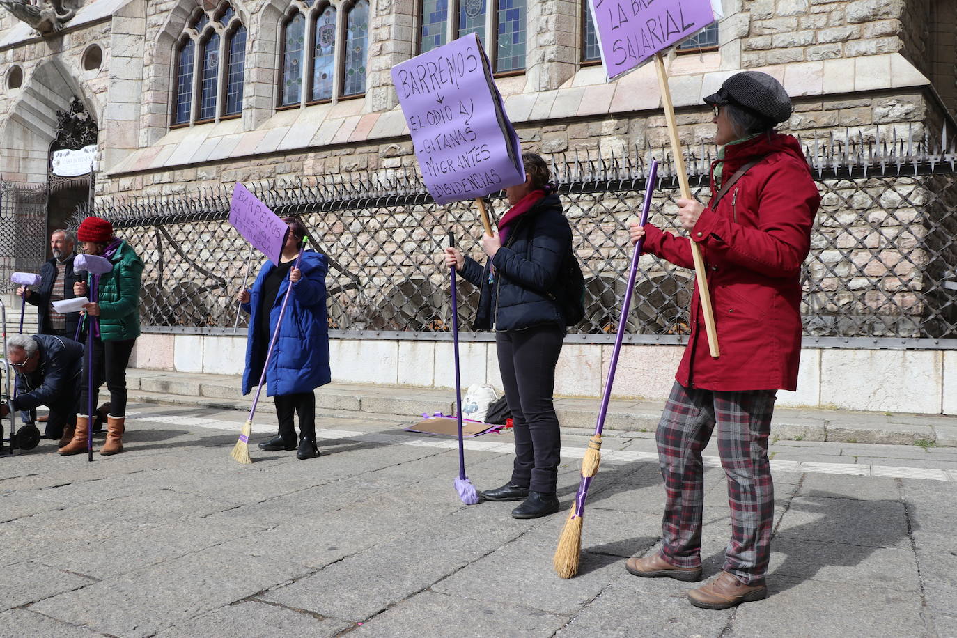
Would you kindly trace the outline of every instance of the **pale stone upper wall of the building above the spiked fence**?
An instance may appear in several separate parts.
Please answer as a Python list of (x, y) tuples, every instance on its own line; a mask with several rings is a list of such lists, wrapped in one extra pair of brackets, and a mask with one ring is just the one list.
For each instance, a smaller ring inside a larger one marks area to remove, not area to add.
[[(0, 14), (0, 174), (45, 181), (56, 110), (74, 95), (100, 125), (100, 194), (411, 164), (389, 69), (416, 53), (422, 4), (371, 3), (362, 95), (287, 110), (277, 108), (279, 40), (294, 4), (233, 3), (247, 30), (241, 113), (186, 127), (170, 125), (173, 57), (198, 11), (194, 0), (95, 0), (47, 37)], [(338, 0), (333, 6), (343, 12)], [(952, 2), (724, 0), (724, 9), (719, 46), (669, 64), (684, 143), (709, 141), (701, 97), (741, 69), (783, 81), (796, 107), (786, 129), (802, 136), (841, 136), (846, 127), (873, 136), (879, 126), (910, 125), (920, 139), (924, 125), (939, 129), (957, 112)], [(600, 66), (581, 63), (583, 11), (570, 0), (527, 7), (524, 70), (499, 79), (523, 142), (545, 153), (665, 145), (654, 70), (607, 83)], [(98, 47), (101, 54), (91, 54)]]

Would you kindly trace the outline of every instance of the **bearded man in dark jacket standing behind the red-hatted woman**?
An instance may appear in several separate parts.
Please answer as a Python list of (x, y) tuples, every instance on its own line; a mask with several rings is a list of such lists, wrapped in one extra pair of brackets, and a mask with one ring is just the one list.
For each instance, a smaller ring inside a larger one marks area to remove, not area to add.
[(77, 334), (79, 313), (60, 315), (53, 302), (72, 299), (73, 284), (83, 277), (73, 272), (73, 233), (53, 231), (50, 235), (50, 251), (53, 258), (40, 269), (40, 289), (33, 292), (21, 286), (17, 295), (26, 295), (27, 302), (36, 306), (36, 332), (41, 335), (59, 335), (73, 339)]

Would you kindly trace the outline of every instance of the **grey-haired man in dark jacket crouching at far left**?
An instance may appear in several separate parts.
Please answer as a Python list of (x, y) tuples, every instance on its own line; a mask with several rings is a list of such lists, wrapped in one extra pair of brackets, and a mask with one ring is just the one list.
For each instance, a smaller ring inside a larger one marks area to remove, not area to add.
[(56, 335), (11, 335), (7, 357), (17, 372), (16, 398), (0, 406), (0, 417), (46, 406), (50, 408), (47, 438), (60, 439), (64, 427), (72, 434), (77, 423), (82, 344)]

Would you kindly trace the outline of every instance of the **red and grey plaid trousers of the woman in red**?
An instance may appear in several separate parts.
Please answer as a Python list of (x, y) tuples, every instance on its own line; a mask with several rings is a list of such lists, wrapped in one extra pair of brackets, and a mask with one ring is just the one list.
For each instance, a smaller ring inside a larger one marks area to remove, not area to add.
[(743, 583), (768, 571), (774, 486), (768, 433), (777, 390), (719, 391), (672, 386), (657, 428), (666, 503), (661, 555), (679, 567), (701, 565), (704, 469), (701, 451), (718, 426), (718, 453), (727, 475), (731, 540), (723, 570)]

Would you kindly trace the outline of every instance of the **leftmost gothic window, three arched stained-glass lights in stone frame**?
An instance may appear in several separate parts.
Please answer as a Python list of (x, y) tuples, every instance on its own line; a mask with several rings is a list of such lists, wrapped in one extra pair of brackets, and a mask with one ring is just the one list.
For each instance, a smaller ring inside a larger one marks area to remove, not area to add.
[(215, 121), (242, 112), (246, 28), (229, 3), (197, 11), (176, 45), (173, 126)]

